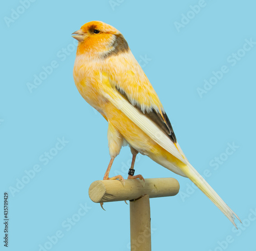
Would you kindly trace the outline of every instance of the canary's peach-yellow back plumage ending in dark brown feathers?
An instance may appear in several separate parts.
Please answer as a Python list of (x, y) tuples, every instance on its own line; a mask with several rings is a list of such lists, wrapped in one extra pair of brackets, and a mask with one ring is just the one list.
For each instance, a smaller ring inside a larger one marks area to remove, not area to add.
[[(114, 70), (114, 71), (113, 71)], [(111, 86), (152, 120), (173, 143), (177, 139), (153, 86), (131, 52), (111, 57), (103, 67)]]

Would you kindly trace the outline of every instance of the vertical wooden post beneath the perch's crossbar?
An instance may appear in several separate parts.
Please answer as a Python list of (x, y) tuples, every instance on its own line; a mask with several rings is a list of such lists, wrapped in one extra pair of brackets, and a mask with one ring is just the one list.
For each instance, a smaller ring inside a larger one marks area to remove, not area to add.
[(150, 196), (130, 201), (131, 251), (151, 251)]

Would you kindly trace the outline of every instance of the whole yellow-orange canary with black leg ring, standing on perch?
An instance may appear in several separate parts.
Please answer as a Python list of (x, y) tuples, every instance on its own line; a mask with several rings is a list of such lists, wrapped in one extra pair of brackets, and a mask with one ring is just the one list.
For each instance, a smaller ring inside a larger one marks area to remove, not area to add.
[[(188, 177), (236, 226), (234, 216), (239, 217), (182, 152), (163, 105), (123, 35), (104, 22), (91, 21), (72, 36), (78, 40), (73, 70), (76, 87), (108, 121), (111, 161), (103, 179), (123, 180), (120, 175), (110, 178), (109, 172), (121, 147), (128, 143), (133, 154), (131, 170), (138, 152), (147, 155)], [(128, 178), (143, 179), (141, 175)]]

